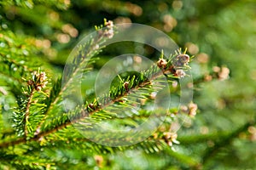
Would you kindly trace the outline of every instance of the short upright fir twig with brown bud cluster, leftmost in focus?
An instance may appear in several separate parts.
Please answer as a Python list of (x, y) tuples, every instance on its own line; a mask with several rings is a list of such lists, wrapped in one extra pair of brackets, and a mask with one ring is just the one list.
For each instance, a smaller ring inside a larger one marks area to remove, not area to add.
[(38, 70), (33, 72), (32, 79), (26, 80), (26, 83), (27, 89), (23, 88), (23, 95), (18, 100), (19, 107), (15, 109), (12, 121), (18, 136), (25, 135), (27, 138), (38, 123), (40, 111), (44, 108), (44, 104), (40, 104), (41, 100), (45, 98), (42, 95), (44, 92), (41, 90), (46, 87), (48, 82), (45, 72)]

